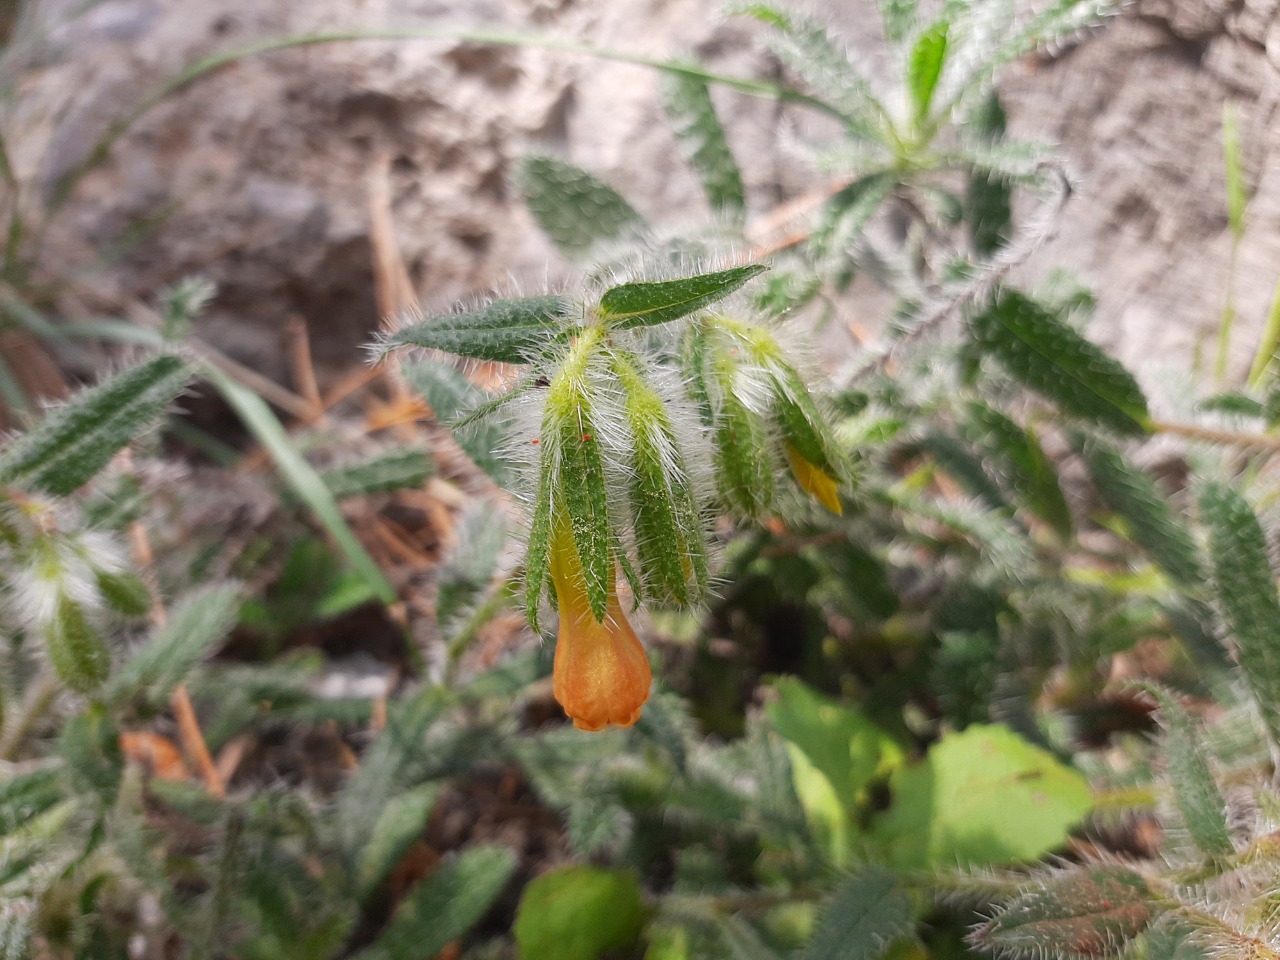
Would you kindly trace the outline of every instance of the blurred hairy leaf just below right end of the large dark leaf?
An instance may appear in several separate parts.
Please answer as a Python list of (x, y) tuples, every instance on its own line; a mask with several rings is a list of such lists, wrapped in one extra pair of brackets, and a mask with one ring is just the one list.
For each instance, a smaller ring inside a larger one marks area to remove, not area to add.
[(1196, 543), (1155, 481), (1101, 440), (1087, 443), (1080, 453), (1103, 503), (1124, 518), (1152, 562), (1184, 586), (1203, 582)]

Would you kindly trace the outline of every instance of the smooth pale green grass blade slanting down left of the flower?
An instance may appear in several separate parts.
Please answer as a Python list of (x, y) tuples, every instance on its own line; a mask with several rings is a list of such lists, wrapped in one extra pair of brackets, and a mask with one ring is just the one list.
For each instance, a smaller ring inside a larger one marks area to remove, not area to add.
[(315, 512), (329, 535), (347, 554), (351, 564), (378, 594), (384, 604), (396, 603), (396, 588), (388, 582), (381, 568), (369, 556), (360, 540), (347, 526), (342, 511), (329, 488), (324, 485), (315, 468), (303, 460), (266, 402), (252, 390), (241, 387), (220, 370), (207, 367), (204, 375), (218, 388), (232, 408), (239, 415), (250, 433), (266, 448), (275, 466), (288, 481), (293, 492)]

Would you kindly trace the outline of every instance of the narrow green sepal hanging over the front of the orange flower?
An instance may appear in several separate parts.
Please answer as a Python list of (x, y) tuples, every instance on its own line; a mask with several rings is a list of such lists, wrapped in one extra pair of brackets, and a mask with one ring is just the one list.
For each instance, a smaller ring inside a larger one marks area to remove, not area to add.
[(616, 579), (609, 544), (609, 494), (604, 481), (604, 454), (589, 411), (564, 417), (558, 426), (559, 488), (582, 563), (582, 580), (591, 613), (604, 622), (609, 591)]

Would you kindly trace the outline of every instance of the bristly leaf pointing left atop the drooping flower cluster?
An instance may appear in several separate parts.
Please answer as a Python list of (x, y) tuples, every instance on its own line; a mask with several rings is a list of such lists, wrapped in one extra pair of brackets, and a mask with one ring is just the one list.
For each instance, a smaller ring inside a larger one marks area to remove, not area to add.
[(397, 347), (426, 347), (474, 360), (527, 364), (568, 325), (573, 310), (568, 297), (495, 300), (477, 310), (443, 316), (413, 317), (387, 337), (381, 352)]

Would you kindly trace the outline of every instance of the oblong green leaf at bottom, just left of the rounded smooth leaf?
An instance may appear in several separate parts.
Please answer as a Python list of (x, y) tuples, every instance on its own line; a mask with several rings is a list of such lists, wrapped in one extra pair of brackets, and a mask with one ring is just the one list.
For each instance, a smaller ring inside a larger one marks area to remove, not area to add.
[(378, 942), (358, 960), (435, 956), (485, 915), (516, 868), (509, 850), (479, 846), (445, 860), (419, 883)]

